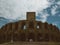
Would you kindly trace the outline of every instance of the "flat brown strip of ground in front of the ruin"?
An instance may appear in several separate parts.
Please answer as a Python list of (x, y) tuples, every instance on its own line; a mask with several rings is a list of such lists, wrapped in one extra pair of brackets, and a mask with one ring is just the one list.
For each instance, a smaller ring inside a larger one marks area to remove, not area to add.
[(0, 45), (60, 45), (57, 42), (14, 42), (14, 43), (4, 43)]

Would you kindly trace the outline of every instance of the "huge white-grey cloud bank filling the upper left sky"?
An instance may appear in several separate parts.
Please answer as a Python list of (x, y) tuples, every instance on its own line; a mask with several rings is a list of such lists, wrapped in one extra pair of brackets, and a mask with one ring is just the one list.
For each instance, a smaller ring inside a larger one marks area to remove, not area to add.
[[(47, 0), (0, 0), (0, 17), (23, 20), (26, 19), (26, 12), (37, 13), (49, 6)], [(47, 16), (41, 17), (46, 19)]]

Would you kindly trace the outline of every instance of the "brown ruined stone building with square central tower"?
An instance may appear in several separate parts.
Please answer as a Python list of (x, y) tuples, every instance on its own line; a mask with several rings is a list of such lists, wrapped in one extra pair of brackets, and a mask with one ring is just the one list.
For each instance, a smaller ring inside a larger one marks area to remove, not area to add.
[(47, 22), (36, 21), (35, 12), (27, 12), (27, 20), (8, 23), (0, 29), (0, 43), (13, 41), (22, 42), (59, 42), (60, 30)]

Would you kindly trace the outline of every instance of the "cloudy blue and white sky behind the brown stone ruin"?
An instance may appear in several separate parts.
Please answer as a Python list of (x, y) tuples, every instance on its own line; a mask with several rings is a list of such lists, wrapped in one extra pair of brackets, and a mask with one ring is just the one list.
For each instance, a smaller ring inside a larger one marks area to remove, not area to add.
[(60, 28), (60, 0), (0, 0), (0, 27), (26, 20), (26, 12), (36, 12), (36, 20)]

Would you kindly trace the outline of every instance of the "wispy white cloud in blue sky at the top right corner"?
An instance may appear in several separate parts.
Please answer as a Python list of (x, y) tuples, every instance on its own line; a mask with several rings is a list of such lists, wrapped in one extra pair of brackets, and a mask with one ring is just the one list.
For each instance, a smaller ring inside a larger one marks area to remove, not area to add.
[(52, 16), (55, 16), (58, 12), (59, 12), (59, 7), (60, 7), (60, 1), (52, 1), (52, 5), (51, 5), (51, 14)]

